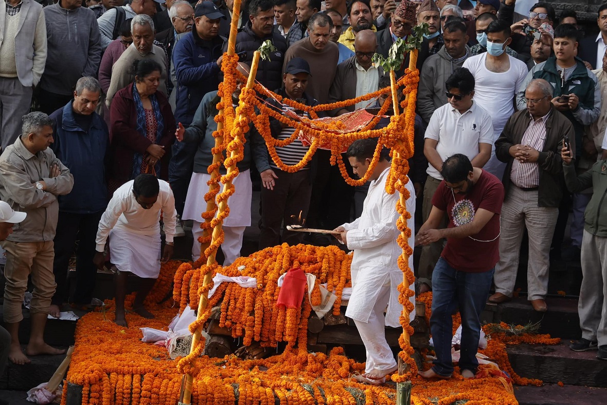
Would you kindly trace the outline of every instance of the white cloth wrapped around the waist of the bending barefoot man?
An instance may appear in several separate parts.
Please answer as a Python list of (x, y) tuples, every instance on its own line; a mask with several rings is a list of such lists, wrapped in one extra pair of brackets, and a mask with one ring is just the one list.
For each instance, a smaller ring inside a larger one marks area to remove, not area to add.
[(118, 270), (156, 279), (160, 274), (160, 233), (141, 235), (116, 227), (110, 231), (110, 256)]

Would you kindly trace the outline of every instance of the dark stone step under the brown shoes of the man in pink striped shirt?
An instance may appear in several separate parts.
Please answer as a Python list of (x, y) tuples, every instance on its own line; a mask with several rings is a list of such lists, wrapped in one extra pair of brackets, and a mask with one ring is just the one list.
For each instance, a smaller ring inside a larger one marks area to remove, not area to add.
[(515, 325), (540, 322), (540, 333), (549, 333), (554, 338), (579, 339), (582, 336), (577, 299), (549, 297), (546, 305), (548, 311), (536, 312), (525, 297), (513, 298), (503, 304), (487, 302), (481, 321)]

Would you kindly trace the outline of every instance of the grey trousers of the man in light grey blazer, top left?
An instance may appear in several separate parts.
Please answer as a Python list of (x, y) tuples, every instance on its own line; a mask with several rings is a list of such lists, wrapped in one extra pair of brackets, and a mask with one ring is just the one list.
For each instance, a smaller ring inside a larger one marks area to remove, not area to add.
[(2, 151), (13, 145), (21, 135), (21, 117), (32, 106), (32, 87), (25, 87), (19, 78), (0, 77), (0, 139)]

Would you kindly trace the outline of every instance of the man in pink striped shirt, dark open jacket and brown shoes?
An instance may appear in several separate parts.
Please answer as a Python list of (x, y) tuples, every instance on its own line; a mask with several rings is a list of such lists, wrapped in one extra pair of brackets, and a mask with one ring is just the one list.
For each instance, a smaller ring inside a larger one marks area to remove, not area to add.
[(512, 297), (524, 227), (529, 233), (527, 299), (536, 311), (546, 311), (549, 251), (558, 206), (563, 196), (564, 140), (574, 140), (571, 121), (552, 106), (552, 87), (543, 79), (532, 80), (525, 91), (526, 109), (506, 123), (495, 141), (495, 155), (507, 163), (506, 191), (501, 210), (500, 261), (495, 266), (495, 294), (490, 302)]

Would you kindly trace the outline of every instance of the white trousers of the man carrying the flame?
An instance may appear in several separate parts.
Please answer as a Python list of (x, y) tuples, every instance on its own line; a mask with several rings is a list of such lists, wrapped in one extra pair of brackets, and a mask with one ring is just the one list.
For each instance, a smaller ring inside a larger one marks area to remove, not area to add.
[(354, 319), (354, 324), (356, 324), (367, 352), (365, 373), (370, 373), (373, 369), (388, 370), (396, 366), (392, 349), (385, 340), (384, 311), (389, 299), (390, 287), (382, 287), (368, 321), (361, 322)]

